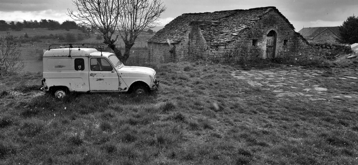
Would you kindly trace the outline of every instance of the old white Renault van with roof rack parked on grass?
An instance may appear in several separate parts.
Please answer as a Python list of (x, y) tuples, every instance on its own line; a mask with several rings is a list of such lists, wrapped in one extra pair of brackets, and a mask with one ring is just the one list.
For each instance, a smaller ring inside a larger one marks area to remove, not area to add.
[(104, 47), (107, 45), (50, 45), (43, 55), (42, 89), (60, 99), (69, 92), (145, 94), (158, 89), (154, 69), (124, 66), (115, 54), (102, 52)]

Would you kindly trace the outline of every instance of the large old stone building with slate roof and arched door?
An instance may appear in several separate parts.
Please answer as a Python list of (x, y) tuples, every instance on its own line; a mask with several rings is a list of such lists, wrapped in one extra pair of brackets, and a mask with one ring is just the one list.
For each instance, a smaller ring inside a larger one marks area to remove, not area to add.
[(182, 14), (148, 40), (149, 61), (304, 56), (308, 42), (276, 7)]

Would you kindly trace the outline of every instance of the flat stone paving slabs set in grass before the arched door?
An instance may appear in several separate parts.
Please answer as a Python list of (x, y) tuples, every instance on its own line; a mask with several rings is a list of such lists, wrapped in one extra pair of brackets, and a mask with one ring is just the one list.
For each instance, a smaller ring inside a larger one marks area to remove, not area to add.
[(279, 67), (275, 69), (252, 69), (249, 71), (235, 70), (232, 76), (237, 79), (246, 80), (253, 87), (260, 87), (263, 90), (271, 90), (278, 99), (290, 99), (290, 97), (302, 96), (311, 101), (339, 99), (356, 100), (357, 92), (352, 94), (342, 94), (333, 92), (331, 89), (321, 87), (317, 82), (310, 78), (318, 77), (322, 79), (343, 79), (352, 86), (357, 86), (358, 77), (353, 76), (334, 76), (323, 77), (321, 70), (308, 70), (303, 67)]

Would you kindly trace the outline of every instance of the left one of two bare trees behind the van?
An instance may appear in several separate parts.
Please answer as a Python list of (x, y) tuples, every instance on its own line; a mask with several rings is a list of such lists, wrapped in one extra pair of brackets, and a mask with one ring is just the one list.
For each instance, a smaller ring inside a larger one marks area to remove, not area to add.
[(79, 25), (94, 28), (102, 35), (103, 43), (108, 44), (121, 59), (121, 50), (115, 45), (119, 36), (115, 34), (115, 30), (122, 10), (122, 2), (120, 0), (73, 0), (72, 2), (77, 12), (67, 9), (67, 15)]

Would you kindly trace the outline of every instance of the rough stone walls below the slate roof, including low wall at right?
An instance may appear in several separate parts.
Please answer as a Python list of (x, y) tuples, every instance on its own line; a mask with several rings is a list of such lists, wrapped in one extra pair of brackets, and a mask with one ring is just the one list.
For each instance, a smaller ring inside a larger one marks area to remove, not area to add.
[[(235, 18), (233, 15), (219, 21), (232, 24), (229, 21), (233, 19), (240, 18)], [(276, 11), (270, 11), (239, 33), (236, 40), (224, 45), (209, 45), (199, 26), (191, 24), (179, 43), (169, 45), (149, 42), (149, 60), (151, 62), (177, 62), (204, 59), (216, 62), (240, 62), (266, 59), (267, 34), (272, 30), (277, 34), (276, 58), (327, 56), (338, 54), (343, 48), (327, 44), (325, 47), (317, 44), (309, 45), (300, 34), (292, 29), (285, 18)]]

